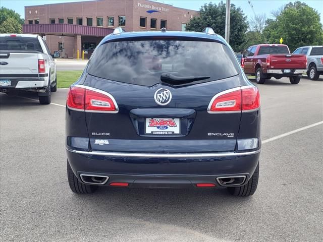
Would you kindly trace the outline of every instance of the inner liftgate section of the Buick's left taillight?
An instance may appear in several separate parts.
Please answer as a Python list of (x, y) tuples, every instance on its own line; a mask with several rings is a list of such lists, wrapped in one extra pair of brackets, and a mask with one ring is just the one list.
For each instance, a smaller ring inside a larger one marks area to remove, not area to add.
[(111, 95), (102, 94), (96, 91), (86, 89), (85, 91), (85, 110), (96, 110), (114, 112), (116, 106)]

